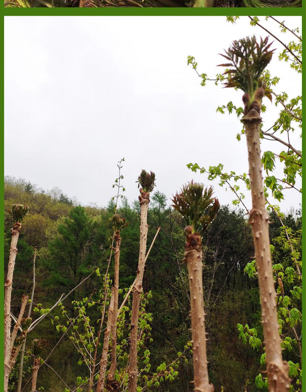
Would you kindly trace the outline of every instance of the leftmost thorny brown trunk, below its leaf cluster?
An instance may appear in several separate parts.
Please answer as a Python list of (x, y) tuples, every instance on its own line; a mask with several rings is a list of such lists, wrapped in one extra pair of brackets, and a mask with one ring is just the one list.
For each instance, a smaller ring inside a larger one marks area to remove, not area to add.
[(19, 222), (15, 223), (11, 229), (11, 250), (9, 252), (9, 265), (7, 277), (4, 284), (4, 392), (7, 392), (11, 359), (11, 295), (13, 286), (13, 274), (17, 255), (17, 242), (20, 233)]

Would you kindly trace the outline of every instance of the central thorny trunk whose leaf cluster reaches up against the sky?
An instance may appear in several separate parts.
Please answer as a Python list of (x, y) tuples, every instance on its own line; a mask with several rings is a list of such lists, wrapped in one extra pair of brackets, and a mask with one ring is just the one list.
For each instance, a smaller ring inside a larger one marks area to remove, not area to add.
[(136, 392), (137, 386), (137, 329), (138, 329), (138, 316), (139, 316), (139, 303), (142, 292), (143, 272), (145, 270), (145, 253), (147, 247), (148, 235), (148, 204), (150, 195), (148, 192), (141, 192), (139, 196), (140, 201), (140, 244), (139, 244), (139, 260), (136, 275), (136, 283), (133, 289), (133, 305), (131, 316), (131, 331), (130, 331), (130, 356), (129, 356), (129, 392)]

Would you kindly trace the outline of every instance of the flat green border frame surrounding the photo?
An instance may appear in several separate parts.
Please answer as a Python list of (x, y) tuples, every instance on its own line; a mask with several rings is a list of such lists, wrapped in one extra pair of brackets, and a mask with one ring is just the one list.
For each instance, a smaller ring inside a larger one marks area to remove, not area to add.
[[(304, 0), (304, 3), (306, 0)], [(2, 91), (1, 102), (2, 102), (2, 113), (3, 127), (0, 132), (0, 156), (1, 156), (1, 171), (4, 174), (4, 16), (302, 16), (302, 28), (306, 25), (304, 21), (304, 7), (302, 8), (5, 8), (1, 6), (1, 72), (2, 72)], [(304, 45), (303, 45), (304, 46)], [(304, 54), (303, 58), (306, 58)], [(306, 77), (302, 75), (302, 92), (306, 90)], [(306, 109), (302, 108), (302, 113), (305, 115)], [(306, 137), (302, 138), (302, 149), (306, 147)], [(302, 187), (306, 188), (306, 176), (302, 177)], [(4, 178), (0, 183), (0, 194), (4, 194)], [(302, 196), (302, 207), (304, 205), (305, 194)], [(0, 198), (0, 230), (4, 231), (4, 198)], [(305, 240), (304, 240), (305, 238)], [(2, 256), (3, 268), (0, 269), (1, 281), (4, 281), (4, 237), (0, 236), (0, 254)], [(302, 254), (304, 261), (306, 258), (306, 214), (302, 214)], [(306, 272), (302, 271), (302, 278), (306, 279)], [(4, 302), (4, 290), (1, 290), (0, 302)], [(0, 319), (4, 319), (4, 309), (0, 307)], [(306, 289), (302, 290), (302, 334), (306, 333)], [(1, 342), (4, 341), (4, 325), (0, 323), (0, 336)], [(302, 361), (306, 363), (306, 352), (304, 350), (304, 344), (302, 339)], [(1, 363), (4, 362), (4, 347), (1, 343), (0, 348), (0, 359)], [(0, 367), (0, 379), (4, 379), (4, 367)], [(302, 392), (306, 392), (306, 377), (303, 377)], [(3, 385), (3, 384), (2, 384)], [(1, 388), (1, 387), (0, 387)], [(1, 389), (0, 389), (1, 390)], [(216, 391), (217, 392), (217, 391)]]

